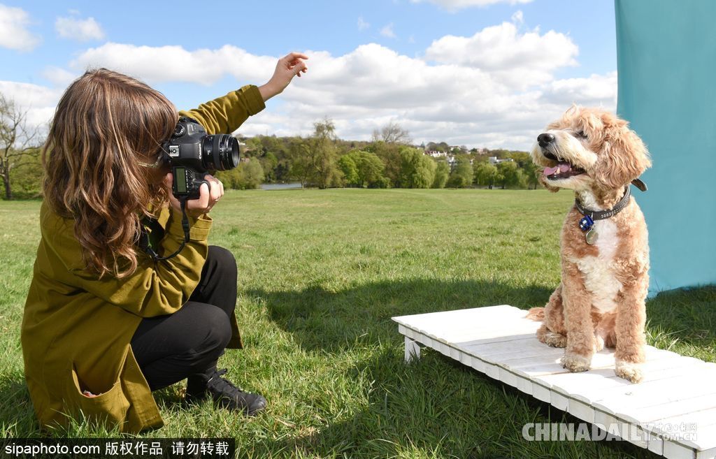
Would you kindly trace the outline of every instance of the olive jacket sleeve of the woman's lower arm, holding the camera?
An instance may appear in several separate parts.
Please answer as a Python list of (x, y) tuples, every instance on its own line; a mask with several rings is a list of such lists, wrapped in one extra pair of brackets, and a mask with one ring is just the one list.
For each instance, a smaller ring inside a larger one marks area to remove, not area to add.
[[(144, 253), (138, 252), (137, 270), (122, 279), (112, 275), (98, 278), (83, 265), (77, 265), (76, 255), (74, 266), (68, 266), (68, 271), (74, 275), (80, 289), (132, 314), (140, 317), (171, 314), (189, 300), (199, 283), (208, 253), (206, 239), (210, 228), (211, 217), (190, 217), (190, 240), (178, 255), (169, 260), (155, 262)], [(68, 236), (74, 240), (71, 232)], [(181, 215), (178, 212), (170, 212), (157, 252), (160, 256), (170, 255), (179, 248), (183, 240)], [(79, 243), (74, 240), (74, 244), (75, 250), (79, 250)]]

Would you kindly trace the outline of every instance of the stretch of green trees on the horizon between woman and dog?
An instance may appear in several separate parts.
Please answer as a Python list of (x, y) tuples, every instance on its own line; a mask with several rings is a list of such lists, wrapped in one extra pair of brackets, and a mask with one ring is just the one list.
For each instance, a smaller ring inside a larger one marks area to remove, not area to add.
[[(339, 139), (330, 119), (315, 122), (309, 137), (256, 136), (242, 141), (246, 147), (240, 166), (217, 174), (224, 184), (238, 189), (264, 182), (300, 182), (321, 189), (538, 187), (537, 169), (527, 152), (450, 148), (445, 142), (415, 147), (410, 134), (393, 122), (375, 130), (369, 142)], [(426, 151), (446, 156), (433, 158)], [(490, 157), (498, 163), (492, 164)]]

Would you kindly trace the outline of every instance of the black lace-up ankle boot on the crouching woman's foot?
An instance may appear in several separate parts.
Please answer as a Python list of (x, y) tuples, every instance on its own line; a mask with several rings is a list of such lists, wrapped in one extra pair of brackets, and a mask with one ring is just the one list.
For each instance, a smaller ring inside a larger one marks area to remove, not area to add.
[(244, 392), (222, 377), (226, 368), (213, 368), (207, 375), (191, 375), (187, 378), (186, 403), (198, 403), (208, 395), (216, 405), (227, 410), (243, 411), (247, 415), (256, 415), (266, 408), (266, 399), (258, 394)]

